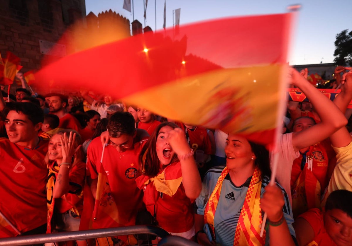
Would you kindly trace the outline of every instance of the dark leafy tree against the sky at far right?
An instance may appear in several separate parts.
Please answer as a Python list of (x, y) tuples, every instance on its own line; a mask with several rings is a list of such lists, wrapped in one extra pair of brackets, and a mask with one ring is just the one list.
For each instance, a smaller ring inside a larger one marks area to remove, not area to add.
[(352, 65), (352, 31), (347, 33), (348, 29), (336, 35), (334, 62), (336, 65)]

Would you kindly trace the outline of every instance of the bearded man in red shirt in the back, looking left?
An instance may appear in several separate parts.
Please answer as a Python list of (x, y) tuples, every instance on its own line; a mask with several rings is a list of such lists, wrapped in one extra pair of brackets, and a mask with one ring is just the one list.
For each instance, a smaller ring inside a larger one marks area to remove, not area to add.
[(73, 129), (78, 131), (79, 129), (81, 129), (80, 123), (73, 115), (70, 115), (66, 112), (66, 106), (68, 104), (67, 100), (67, 96), (65, 95), (51, 93), (50, 97), (48, 98), (49, 112), (50, 114), (54, 114), (59, 117), (60, 128)]

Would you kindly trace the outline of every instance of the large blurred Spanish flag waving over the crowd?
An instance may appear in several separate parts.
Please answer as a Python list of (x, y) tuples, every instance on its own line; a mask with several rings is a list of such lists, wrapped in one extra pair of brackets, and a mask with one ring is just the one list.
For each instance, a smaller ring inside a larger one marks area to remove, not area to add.
[(292, 13), (147, 32), (45, 66), (42, 85), (84, 86), (188, 124), (274, 140)]

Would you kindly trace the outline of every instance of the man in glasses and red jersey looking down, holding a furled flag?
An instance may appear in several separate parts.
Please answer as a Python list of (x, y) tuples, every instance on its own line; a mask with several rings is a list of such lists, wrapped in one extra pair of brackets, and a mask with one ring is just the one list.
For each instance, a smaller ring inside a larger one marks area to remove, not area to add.
[(134, 225), (142, 208), (143, 193), (135, 179), (144, 141), (136, 137), (134, 118), (128, 112), (116, 112), (107, 129), (109, 144), (103, 148), (98, 137), (87, 150), (88, 183), (96, 199), (93, 228)]

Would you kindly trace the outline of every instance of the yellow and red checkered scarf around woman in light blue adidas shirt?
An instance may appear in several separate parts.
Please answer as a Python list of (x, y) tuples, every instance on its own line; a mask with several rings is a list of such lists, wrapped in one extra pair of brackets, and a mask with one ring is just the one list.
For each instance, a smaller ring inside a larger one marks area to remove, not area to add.
[[(208, 223), (215, 240), (214, 216), (218, 206), (221, 193), (222, 182), (230, 169), (227, 167), (222, 171), (215, 188), (209, 197), (204, 211), (204, 223)], [(260, 192), (262, 181), (260, 180), (260, 170), (254, 170), (249, 188), (246, 193), (241, 214), (238, 219), (233, 245), (264, 245), (265, 230), (263, 238), (260, 237), (260, 225), (262, 224), (262, 209), (260, 208)]]

